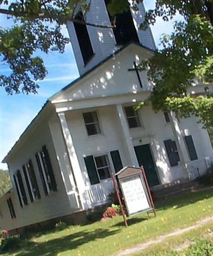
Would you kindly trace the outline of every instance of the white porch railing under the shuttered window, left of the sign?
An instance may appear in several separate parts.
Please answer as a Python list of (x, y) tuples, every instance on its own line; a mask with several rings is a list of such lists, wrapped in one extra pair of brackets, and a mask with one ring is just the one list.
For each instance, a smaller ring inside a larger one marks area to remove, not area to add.
[(114, 191), (112, 180), (108, 179), (102, 183), (90, 185), (86, 187), (86, 191), (92, 205), (103, 203), (109, 200), (109, 194)]

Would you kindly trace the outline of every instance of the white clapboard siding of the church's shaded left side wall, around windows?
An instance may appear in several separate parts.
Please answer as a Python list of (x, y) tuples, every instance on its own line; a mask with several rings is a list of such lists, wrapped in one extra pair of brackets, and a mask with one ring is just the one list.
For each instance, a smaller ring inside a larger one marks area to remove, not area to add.
[[(22, 174), (22, 180), (24, 183), (28, 205), (24, 207), (20, 207), (18, 196), (16, 190), (14, 189), (15, 196), (13, 197), (13, 203), (15, 205), (15, 214), (17, 218), (12, 220), (6, 220), (5, 211), (3, 212), (3, 227), (4, 229), (14, 229), (22, 226), (27, 226), (29, 224), (45, 221), (48, 219), (56, 218), (58, 216), (67, 215), (71, 213), (71, 208), (69, 204), (69, 199), (67, 193), (65, 192), (64, 183), (62, 181), (61, 172), (59, 169), (58, 160), (56, 159), (56, 154), (54, 150), (54, 145), (52, 143), (52, 138), (50, 134), (50, 130), (48, 128), (48, 124), (46, 120), (40, 120), (41, 122), (38, 126), (35, 126), (33, 130), (28, 133), (27, 137), (22, 140), (21, 145), (10, 157), (9, 168), (11, 177), (16, 170), (20, 170)], [(58, 190), (56, 192), (50, 193), (50, 195), (45, 196), (42, 182), (40, 179), (40, 175), (37, 168), (37, 163), (35, 159), (35, 153), (37, 151), (42, 150), (42, 146), (46, 145), (48, 152), (50, 154), (51, 163), (55, 175), (55, 180), (58, 186)], [(31, 203), (29, 198), (29, 193), (26, 186), (26, 181), (22, 172), (22, 165), (26, 164), (29, 159), (32, 160), (32, 164), (34, 166), (36, 179), (41, 195), (41, 199)], [(12, 179), (13, 182), (13, 179)], [(13, 187), (14, 182), (13, 182)], [(6, 200), (4, 201), (6, 204)], [(7, 207), (7, 206), (5, 206)]]

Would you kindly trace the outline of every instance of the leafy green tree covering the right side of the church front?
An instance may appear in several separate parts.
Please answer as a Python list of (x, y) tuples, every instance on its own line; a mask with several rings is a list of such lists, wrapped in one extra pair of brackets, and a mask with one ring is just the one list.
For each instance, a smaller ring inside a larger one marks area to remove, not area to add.
[[(176, 13), (183, 21), (175, 22), (174, 32), (161, 38), (162, 49), (141, 64), (154, 83), (149, 102), (155, 111), (175, 111), (179, 117), (193, 114), (204, 127), (212, 127), (213, 96), (208, 84), (213, 82), (213, 1), (156, 1), (141, 27), (153, 25), (157, 17), (173, 19)], [(195, 80), (207, 85), (206, 96), (187, 94)]]

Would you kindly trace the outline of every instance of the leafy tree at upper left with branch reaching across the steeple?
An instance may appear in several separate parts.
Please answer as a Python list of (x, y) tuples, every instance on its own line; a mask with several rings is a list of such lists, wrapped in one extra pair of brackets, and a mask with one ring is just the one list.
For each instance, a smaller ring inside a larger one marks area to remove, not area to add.
[[(112, 12), (122, 12), (129, 6), (124, 0), (112, 0), (109, 5)], [(68, 21), (108, 28), (86, 22), (90, 7), (90, 1), (86, 0), (0, 0), (0, 6), (0, 13), (13, 20), (12, 27), (0, 28), (1, 60), (11, 69), (10, 75), (0, 75), (0, 86), (8, 94), (37, 92), (37, 81), (45, 78), (47, 69), (36, 54), (38, 51), (64, 52), (69, 39), (63, 36), (61, 26)], [(84, 13), (81, 19), (75, 18), (78, 10)]]

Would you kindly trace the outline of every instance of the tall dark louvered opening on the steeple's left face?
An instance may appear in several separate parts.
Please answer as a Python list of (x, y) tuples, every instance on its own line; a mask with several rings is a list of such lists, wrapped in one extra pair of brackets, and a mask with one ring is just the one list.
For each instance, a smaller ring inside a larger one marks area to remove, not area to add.
[[(85, 22), (84, 15), (81, 11), (78, 12), (75, 19)], [(78, 44), (80, 47), (81, 55), (84, 60), (84, 64), (86, 65), (88, 63), (88, 61), (94, 55), (91, 40), (89, 38), (89, 33), (87, 30), (87, 26), (85, 24), (79, 24), (76, 22), (73, 22), (73, 25), (75, 27), (76, 36), (78, 39)]]

